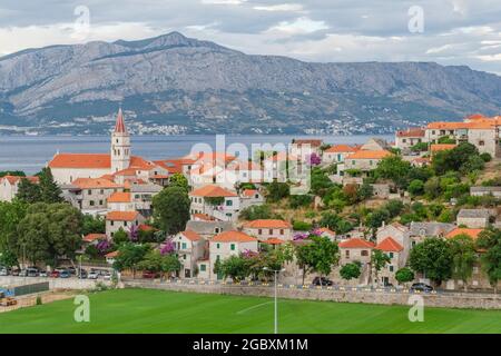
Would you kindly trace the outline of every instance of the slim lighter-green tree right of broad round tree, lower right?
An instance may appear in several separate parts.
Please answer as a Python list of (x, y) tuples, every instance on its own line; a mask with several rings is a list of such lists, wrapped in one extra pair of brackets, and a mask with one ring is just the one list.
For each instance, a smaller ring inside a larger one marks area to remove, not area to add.
[(452, 254), (452, 277), (463, 281), (468, 290), (468, 278), (471, 277), (477, 261), (475, 244), (468, 235), (458, 235), (449, 240)]

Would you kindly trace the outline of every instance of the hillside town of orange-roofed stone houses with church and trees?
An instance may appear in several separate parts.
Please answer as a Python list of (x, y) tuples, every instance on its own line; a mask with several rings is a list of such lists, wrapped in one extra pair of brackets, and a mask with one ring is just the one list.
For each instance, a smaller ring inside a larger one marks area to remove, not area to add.
[(3, 276), (495, 291), (501, 117), (151, 161), (120, 109), (109, 152), (3, 172), (0, 201)]

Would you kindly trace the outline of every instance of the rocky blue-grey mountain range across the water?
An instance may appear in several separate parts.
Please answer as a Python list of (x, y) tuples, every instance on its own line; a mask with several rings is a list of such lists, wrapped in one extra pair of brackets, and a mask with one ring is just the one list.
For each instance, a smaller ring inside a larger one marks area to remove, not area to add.
[(0, 134), (383, 134), (499, 115), (501, 77), (434, 62), (304, 62), (178, 32), (0, 58)]

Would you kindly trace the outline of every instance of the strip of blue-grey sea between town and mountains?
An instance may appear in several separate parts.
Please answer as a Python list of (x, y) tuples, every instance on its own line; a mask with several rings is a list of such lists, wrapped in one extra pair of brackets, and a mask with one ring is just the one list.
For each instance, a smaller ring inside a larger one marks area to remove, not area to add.
[[(293, 138), (318, 138), (327, 144), (363, 144), (372, 137), (393, 141), (393, 135), (353, 136), (288, 136), (288, 135), (183, 135), (183, 136), (132, 136), (132, 155), (149, 160), (178, 158), (194, 151), (220, 150), (233, 144), (242, 144), (249, 151), (255, 145), (291, 144)], [(198, 149), (207, 147), (207, 149)], [(0, 171), (22, 170), (28, 175), (40, 171), (57, 154), (109, 152), (109, 136), (0, 136)], [(249, 154), (250, 155), (250, 154)]]

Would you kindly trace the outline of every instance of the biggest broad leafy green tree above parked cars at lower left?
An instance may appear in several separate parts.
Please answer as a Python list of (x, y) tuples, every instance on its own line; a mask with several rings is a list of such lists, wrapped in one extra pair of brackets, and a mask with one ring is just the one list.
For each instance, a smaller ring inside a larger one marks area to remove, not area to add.
[(18, 256), (57, 266), (59, 256), (75, 257), (81, 245), (81, 212), (68, 204), (31, 205), (18, 225)]

